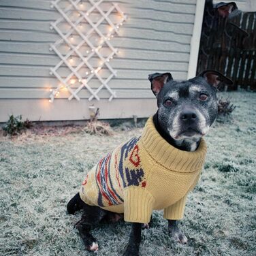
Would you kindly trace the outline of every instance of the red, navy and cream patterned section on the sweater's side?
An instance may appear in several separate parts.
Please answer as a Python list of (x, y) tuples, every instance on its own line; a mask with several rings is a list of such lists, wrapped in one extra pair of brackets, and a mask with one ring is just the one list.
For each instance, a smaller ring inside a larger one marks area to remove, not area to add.
[[(123, 204), (123, 189), (129, 186), (146, 187), (140, 163), (140, 149), (135, 137), (103, 157), (95, 169), (98, 206)], [(88, 175), (82, 185), (86, 185)], [(86, 188), (85, 188), (86, 189)]]

